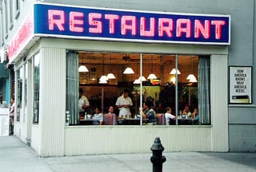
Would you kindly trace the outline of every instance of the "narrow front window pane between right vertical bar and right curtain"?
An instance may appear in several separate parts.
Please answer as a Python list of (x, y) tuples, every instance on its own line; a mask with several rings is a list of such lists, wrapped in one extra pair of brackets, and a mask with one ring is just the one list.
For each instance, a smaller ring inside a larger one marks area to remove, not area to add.
[(198, 56), (179, 55), (178, 69), (178, 125), (194, 124), (198, 114)]

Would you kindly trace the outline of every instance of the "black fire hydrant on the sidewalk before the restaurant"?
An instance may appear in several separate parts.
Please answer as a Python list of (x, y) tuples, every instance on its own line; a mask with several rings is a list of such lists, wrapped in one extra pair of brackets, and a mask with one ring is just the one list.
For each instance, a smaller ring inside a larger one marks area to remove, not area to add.
[(166, 157), (162, 156), (162, 151), (165, 148), (162, 147), (161, 140), (159, 137), (154, 139), (154, 144), (150, 148), (153, 155), (150, 158), (150, 161), (153, 163), (153, 172), (162, 172), (162, 163), (166, 162)]

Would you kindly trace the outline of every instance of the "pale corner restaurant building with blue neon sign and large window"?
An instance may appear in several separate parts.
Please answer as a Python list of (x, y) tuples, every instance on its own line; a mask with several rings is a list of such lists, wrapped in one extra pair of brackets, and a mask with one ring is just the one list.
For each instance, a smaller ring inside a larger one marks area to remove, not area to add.
[[(1, 42), (15, 71), (14, 135), (42, 157), (148, 152), (156, 136), (165, 151), (256, 151), (253, 0), (32, 2), (2, 1)], [(133, 105), (122, 117), (124, 89)], [(142, 119), (146, 100), (157, 125)]]

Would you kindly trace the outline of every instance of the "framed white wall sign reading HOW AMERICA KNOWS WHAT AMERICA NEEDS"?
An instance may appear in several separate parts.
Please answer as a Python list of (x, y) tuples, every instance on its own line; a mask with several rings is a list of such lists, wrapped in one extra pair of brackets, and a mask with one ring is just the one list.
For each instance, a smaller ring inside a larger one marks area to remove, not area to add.
[(252, 104), (251, 80), (251, 66), (230, 66), (230, 104)]

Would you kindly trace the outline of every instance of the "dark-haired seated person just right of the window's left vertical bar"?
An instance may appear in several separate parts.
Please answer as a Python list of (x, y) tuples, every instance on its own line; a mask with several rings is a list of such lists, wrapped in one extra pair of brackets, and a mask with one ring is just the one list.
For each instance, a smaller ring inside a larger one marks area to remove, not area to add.
[(153, 107), (154, 107), (154, 104), (151, 100), (146, 100), (146, 102), (143, 104), (142, 118), (148, 119), (146, 121), (146, 124), (152, 124), (152, 125), (157, 124), (157, 117)]

